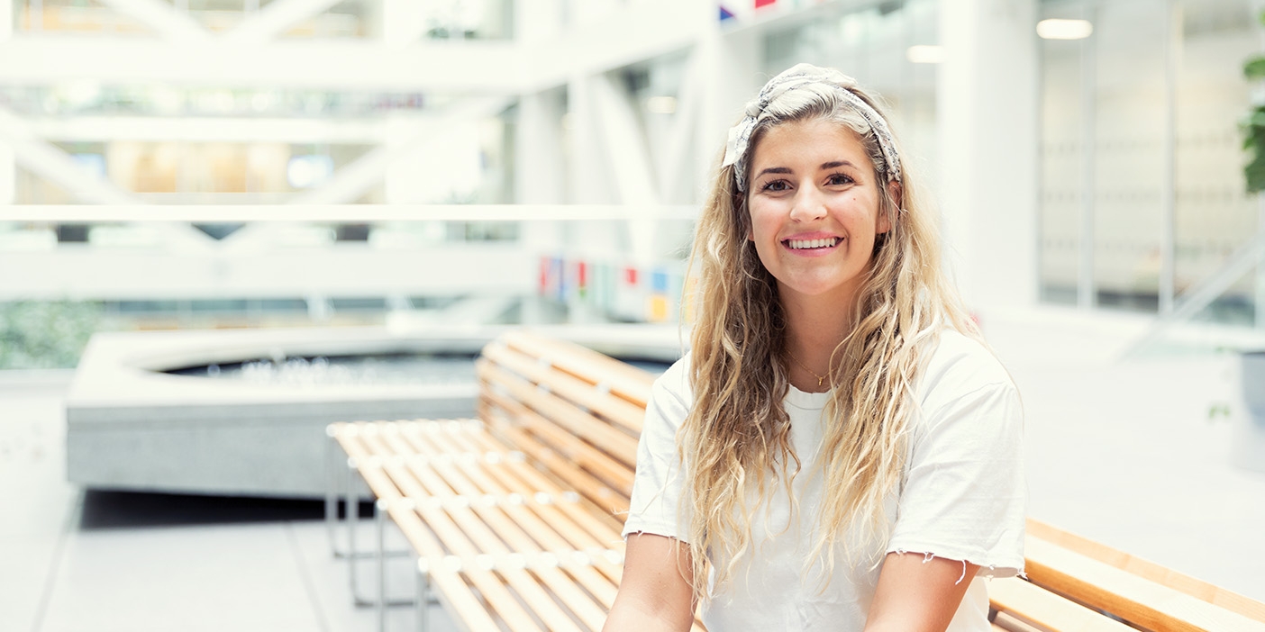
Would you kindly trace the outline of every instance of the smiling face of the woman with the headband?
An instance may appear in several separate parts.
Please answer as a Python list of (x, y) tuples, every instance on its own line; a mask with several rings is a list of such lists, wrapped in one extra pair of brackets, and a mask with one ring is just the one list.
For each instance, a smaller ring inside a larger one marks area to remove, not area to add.
[(853, 305), (889, 229), (880, 185), (856, 134), (824, 119), (784, 123), (751, 153), (749, 239), (779, 296)]

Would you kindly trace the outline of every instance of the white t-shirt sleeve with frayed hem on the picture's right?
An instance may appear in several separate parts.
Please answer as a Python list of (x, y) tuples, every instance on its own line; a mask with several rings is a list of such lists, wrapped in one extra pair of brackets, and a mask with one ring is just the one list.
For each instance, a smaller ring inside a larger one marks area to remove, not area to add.
[(982, 575), (1023, 570), (1023, 410), (1009, 380), (923, 408), (888, 552), (965, 560)]

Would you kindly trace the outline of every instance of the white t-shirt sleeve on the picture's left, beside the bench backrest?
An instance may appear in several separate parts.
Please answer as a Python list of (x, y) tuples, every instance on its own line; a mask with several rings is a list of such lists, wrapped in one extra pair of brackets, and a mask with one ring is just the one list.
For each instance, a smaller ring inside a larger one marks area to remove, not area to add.
[(686, 360), (659, 377), (645, 408), (645, 423), (636, 450), (636, 477), (624, 537), (654, 533), (683, 538), (688, 520), (681, 516), (682, 468), (677, 430), (689, 412)]

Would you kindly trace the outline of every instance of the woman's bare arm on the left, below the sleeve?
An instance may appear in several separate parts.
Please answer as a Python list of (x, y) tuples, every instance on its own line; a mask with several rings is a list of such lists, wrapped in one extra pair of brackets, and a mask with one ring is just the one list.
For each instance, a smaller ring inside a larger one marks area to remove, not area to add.
[(651, 533), (629, 535), (624, 579), (602, 632), (687, 631), (694, 619), (689, 547)]

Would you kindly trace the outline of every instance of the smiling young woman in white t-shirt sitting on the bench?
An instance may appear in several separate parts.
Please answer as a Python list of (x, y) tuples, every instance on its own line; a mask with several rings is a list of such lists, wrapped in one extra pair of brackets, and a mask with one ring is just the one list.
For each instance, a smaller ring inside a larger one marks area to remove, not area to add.
[(1022, 411), (873, 97), (774, 77), (700, 219), (606, 629), (987, 631), (1023, 565)]

